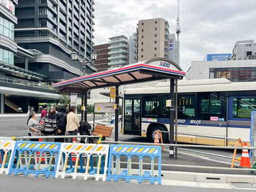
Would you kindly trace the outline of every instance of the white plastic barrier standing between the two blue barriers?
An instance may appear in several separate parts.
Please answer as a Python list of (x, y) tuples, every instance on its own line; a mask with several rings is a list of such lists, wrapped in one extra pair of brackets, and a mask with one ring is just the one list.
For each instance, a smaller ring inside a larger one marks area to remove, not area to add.
[(56, 178), (71, 176), (106, 180), (109, 145), (62, 143)]

